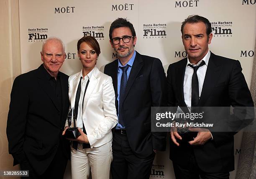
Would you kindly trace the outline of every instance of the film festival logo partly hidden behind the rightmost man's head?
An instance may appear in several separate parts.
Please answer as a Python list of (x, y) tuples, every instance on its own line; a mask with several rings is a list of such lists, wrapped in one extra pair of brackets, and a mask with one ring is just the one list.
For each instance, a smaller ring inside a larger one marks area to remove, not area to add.
[(214, 37), (232, 37), (233, 35), (233, 22), (216, 21), (211, 22), (212, 34)]

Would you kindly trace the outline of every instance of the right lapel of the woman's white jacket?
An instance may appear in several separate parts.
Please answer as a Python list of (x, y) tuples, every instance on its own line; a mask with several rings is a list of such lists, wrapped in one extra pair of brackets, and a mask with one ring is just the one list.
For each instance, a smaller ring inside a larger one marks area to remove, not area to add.
[(90, 82), (88, 84), (87, 90), (85, 92), (85, 96), (84, 96), (84, 107), (83, 107), (83, 113), (85, 112), (86, 109), (86, 105), (88, 102), (88, 99), (90, 98), (93, 90), (95, 89), (96, 84), (98, 83), (98, 77), (100, 76), (100, 71), (99, 69), (95, 66), (94, 68), (94, 72), (92, 74), (92, 77), (89, 79)]

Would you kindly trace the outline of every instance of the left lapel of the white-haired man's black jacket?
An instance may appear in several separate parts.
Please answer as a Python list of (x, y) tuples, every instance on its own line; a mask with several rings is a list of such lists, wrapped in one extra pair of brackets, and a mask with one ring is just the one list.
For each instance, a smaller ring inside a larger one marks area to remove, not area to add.
[(37, 79), (38, 79), (38, 83), (41, 86), (41, 89), (46, 92), (46, 94), (50, 97), (51, 101), (54, 103), (56, 109), (58, 111), (60, 111), (60, 106), (59, 103), (57, 102), (57, 98), (54, 94), (54, 90), (51, 87), (51, 84), (49, 83), (49, 80), (46, 78), (46, 75), (44, 71), (44, 66), (43, 64), (41, 66), (38, 67), (37, 69)]

